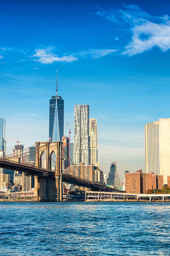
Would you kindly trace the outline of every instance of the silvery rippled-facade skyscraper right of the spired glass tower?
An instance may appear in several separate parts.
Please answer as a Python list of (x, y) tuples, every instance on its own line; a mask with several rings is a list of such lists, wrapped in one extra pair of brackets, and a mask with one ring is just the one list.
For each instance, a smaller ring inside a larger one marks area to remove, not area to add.
[(74, 164), (90, 164), (89, 105), (74, 105)]

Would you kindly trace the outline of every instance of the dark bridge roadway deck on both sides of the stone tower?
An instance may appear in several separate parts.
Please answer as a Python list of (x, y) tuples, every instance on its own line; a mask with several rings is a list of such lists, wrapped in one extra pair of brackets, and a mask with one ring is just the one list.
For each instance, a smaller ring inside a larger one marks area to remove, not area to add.
[[(27, 173), (28, 175), (34, 175), (39, 177), (55, 177), (55, 172), (52, 170), (44, 169), (31, 164), (11, 161), (5, 158), (0, 158), (0, 168), (24, 172), (24, 173)], [(91, 188), (92, 190), (95, 190), (95, 191), (99, 191), (99, 189), (105, 190), (105, 187), (106, 187), (105, 184), (89, 181), (87, 179), (83, 179), (70, 174), (62, 173), (62, 175), (63, 175), (62, 180), (65, 183)]]

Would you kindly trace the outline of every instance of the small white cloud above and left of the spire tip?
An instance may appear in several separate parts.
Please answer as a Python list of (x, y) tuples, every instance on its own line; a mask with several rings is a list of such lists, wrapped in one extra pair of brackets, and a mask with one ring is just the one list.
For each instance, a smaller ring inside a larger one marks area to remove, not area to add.
[(73, 55), (58, 57), (57, 55), (54, 55), (53, 53), (51, 53), (51, 48), (36, 49), (36, 54), (33, 54), (33, 57), (37, 58), (37, 59), (34, 59), (34, 61), (38, 61), (43, 64), (51, 64), (53, 62), (69, 63), (69, 62), (78, 60), (78, 58), (74, 57)]

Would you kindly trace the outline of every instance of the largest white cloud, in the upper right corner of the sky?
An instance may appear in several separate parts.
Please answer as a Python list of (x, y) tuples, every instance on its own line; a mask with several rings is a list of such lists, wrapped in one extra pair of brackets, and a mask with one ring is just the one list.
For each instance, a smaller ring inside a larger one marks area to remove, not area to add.
[[(152, 16), (137, 5), (123, 5), (122, 9), (99, 10), (100, 17), (119, 24), (132, 33), (122, 55), (132, 56), (157, 46), (162, 51), (170, 49), (170, 18), (168, 15)], [(115, 38), (117, 40), (117, 38)]]

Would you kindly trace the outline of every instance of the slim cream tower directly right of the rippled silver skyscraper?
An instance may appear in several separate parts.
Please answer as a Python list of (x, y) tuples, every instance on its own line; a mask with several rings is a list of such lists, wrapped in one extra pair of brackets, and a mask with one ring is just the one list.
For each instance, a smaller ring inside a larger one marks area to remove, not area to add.
[(97, 166), (97, 119), (89, 119), (91, 164)]

